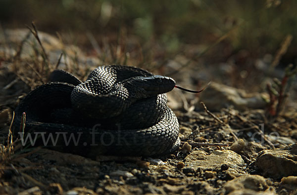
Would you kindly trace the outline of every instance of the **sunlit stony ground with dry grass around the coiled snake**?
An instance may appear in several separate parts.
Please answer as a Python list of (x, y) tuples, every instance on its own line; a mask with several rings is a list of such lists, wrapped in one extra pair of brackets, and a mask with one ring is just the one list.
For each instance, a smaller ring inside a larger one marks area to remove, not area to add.
[(44, 50), (28, 30), (7, 30), (0, 40), (0, 194), (297, 194), (297, 87), (291, 83), (283, 112), (274, 113), (275, 105), (269, 104), (277, 104), (274, 96), (258, 91), (272, 77), (282, 79), (285, 72), (263, 71), (266, 58), (255, 60), (258, 69), (248, 78), (232, 63), (215, 67), (190, 63), (179, 70), (187, 61), (183, 55), (158, 69), (143, 66), (187, 88), (213, 81), (199, 96), (168, 93), (182, 140), (172, 155), (90, 159), (24, 149), (16, 137), (11, 142), (14, 108), (31, 89), (46, 82), (51, 70), (62, 68), (83, 79), (105, 63), (102, 56), (86, 56), (61, 39), (41, 32), (38, 36)]

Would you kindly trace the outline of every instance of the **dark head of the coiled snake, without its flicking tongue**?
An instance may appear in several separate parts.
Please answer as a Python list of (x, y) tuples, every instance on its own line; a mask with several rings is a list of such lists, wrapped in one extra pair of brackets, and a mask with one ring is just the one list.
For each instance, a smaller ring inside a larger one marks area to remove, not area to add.
[(133, 77), (127, 81), (145, 96), (158, 95), (171, 91), (175, 86), (175, 80), (170, 77), (154, 75), (149, 77)]

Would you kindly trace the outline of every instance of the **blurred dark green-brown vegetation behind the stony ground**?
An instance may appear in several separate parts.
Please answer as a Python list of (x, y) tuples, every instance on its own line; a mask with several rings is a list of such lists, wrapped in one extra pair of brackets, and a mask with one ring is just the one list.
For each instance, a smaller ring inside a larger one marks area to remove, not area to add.
[(292, 35), (281, 60), (287, 65), (297, 57), (296, 8), (296, 0), (0, 0), (0, 22), (7, 29), (35, 21), (39, 30), (69, 33), (86, 49), (92, 47), (90, 33), (99, 45), (129, 37), (145, 50), (157, 42), (165, 57), (187, 45), (199, 45), (189, 55), (214, 45), (206, 54), (212, 62), (239, 52), (275, 55)]

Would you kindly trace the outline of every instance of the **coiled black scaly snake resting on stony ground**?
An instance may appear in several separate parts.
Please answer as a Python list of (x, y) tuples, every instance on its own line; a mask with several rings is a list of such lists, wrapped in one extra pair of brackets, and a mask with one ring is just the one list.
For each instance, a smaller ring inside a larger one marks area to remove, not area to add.
[(26, 133), (19, 133), (23, 140), (36, 138), (31, 146), (61, 152), (170, 154), (180, 146), (178, 119), (167, 106), (166, 93), (174, 87), (174, 79), (132, 66), (99, 66), (85, 81), (54, 70), (48, 83), (21, 100), (14, 124)]

